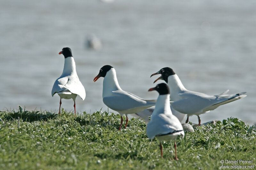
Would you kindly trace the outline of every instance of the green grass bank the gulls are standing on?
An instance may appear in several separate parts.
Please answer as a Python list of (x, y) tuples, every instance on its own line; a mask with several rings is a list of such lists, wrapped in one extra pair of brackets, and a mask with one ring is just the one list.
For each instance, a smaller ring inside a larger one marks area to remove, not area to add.
[(5, 122), (0, 122), (0, 169), (219, 169), (221, 159), (254, 163), (236, 165), (256, 162), (255, 129), (236, 118), (197, 127), (177, 139), (178, 161), (173, 142), (163, 143), (161, 158), (144, 122), (131, 119), (118, 131), (120, 115), (113, 113), (74, 117), (20, 108), (0, 112), (0, 118)]

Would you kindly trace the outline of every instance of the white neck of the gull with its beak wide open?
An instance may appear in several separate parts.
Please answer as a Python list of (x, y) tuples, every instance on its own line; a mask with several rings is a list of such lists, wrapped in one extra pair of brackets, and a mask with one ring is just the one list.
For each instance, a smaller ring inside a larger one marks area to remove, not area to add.
[(168, 86), (170, 89), (170, 93), (171, 93), (171, 100), (172, 101), (177, 101), (180, 100), (179, 98), (179, 93), (182, 93), (183, 91), (187, 90), (183, 84), (181, 83), (179, 77), (177, 74), (174, 75), (170, 75), (168, 77)]

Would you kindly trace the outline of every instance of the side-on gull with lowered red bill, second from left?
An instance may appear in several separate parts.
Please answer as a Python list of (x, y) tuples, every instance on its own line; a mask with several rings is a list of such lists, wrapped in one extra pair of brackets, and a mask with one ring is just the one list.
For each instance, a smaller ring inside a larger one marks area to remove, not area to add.
[(93, 81), (97, 81), (100, 77), (104, 77), (102, 92), (103, 103), (121, 115), (119, 130), (121, 130), (123, 124), (124, 114), (126, 115), (126, 128), (128, 122), (127, 114), (140, 112), (156, 105), (156, 100), (145, 100), (122, 90), (116, 78), (116, 70), (112, 66), (106, 65), (101, 67), (100, 73)]

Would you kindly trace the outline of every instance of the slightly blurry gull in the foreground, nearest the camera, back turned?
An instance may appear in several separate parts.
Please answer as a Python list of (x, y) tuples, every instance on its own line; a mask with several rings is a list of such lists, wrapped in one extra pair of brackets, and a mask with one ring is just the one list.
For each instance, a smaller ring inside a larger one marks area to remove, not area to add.
[[(161, 142), (165, 140), (176, 140), (179, 135), (184, 137), (184, 130), (178, 118), (172, 114), (170, 108), (170, 91), (165, 83), (156, 85), (148, 91), (156, 90), (159, 93), (156, 107), (151, 115), (151, 119), (147, 126), (148, 138), (156, 137), (160, 142), (161, 157), (163, 157), (163, 147)], [(176, 142), (174, 142), (175, 159), (177, 157)]]

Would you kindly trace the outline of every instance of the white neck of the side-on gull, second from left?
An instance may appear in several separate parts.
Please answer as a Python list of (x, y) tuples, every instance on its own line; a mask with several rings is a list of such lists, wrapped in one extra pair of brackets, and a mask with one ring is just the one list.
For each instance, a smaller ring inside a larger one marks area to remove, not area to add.
[(112, 91), (122, 90), (118, 84), (116, 78), (116, 70), (111, 68), (103, 80), (103, 92), (102, 97), (107, 97), (112, 95)]

